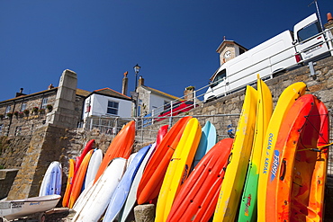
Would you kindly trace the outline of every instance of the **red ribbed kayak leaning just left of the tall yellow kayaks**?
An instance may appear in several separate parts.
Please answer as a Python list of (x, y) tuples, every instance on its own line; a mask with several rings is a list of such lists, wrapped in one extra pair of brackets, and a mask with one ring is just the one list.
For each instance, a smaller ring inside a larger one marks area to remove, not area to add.
[(209, 221), (218, 201), (232, 143), (232, 138), (224, 138), (202, 157), (176, 195), (166, 221)]

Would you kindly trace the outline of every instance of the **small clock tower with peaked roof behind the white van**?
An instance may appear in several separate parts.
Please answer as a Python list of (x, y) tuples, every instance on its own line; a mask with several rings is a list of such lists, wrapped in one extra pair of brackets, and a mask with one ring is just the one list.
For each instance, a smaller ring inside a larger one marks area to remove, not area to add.
[(220, 65), (246, 51), (247, 49), (245, 47), (239, 45), (234, 40), (226, 40), (225, 36), (223, 37), (223, 41), (220, 43), (219, 48), (216, 49), (216, 52), (220, 54)]

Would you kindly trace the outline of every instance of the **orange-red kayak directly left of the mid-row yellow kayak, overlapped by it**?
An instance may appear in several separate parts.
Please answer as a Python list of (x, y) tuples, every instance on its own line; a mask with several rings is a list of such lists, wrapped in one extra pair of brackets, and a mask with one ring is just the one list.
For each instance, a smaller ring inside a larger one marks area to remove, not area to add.
[(166, 136), (161, 140), (158, 147), (156, 147), (139, 182), (137, 191), (138, 204), (143, 204), (157, 198), (167, 165), (183, 135), (187, 122), (191, 119), (191, 116), (187, 116), (178, 120), (166, 133)]

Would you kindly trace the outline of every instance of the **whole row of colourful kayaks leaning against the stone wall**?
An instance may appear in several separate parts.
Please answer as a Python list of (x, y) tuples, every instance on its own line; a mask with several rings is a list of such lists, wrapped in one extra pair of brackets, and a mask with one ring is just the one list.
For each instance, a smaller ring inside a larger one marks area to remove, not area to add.
[(127, 221), (146, 203), (156, 205), (157, 222), (322, 221), (329, 112), (305, 89), (288, 86), (273, 109), (258, 77), (257, 90), (247, 86), (235, 137), (220, 141), (211, 122), (201, 127), (186, 116), (131, 154), (130, 121), (104, 155), (91, 140), (69, 160), (62, 204), (76, 211), (72, 221)]

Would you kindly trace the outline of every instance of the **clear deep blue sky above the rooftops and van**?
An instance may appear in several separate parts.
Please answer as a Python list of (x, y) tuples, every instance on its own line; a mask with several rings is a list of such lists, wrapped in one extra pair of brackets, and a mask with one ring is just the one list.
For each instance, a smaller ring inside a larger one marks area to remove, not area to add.
[[(132, 91), (137, 63), (146, 85), (182, 96), (208, 84), (223, 36), (251, 49), (315, 13), (311, 2), (0, 0), (0, 101), (58, 86), (65, 69), (80, 89), (118, 92), (128, 71)], [(326, 23), (333, 0), (318, 4)]]

